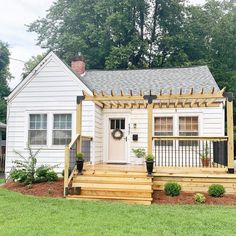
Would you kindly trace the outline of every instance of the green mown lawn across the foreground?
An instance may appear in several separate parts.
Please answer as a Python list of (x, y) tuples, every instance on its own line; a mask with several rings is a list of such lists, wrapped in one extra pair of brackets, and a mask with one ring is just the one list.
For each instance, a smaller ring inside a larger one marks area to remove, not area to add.
[(0, 189), (1, 235), (235, 235), (236, 207), (126, 205)]

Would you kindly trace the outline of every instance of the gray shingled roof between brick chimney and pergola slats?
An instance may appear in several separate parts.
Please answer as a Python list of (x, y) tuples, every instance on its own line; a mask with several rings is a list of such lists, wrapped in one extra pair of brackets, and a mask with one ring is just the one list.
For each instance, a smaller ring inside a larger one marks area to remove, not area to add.
[(213, 87), (219, 90), (215, 79), (213, 78), (207, 66), (196, 66), (189, 68), (171, 68), (171, 69), (146, 69), (146, 70), (91, 70), (87, 71), (80, 79), (91, 90), (97, 92), (104, 91), (110, 93), (111, 90), (119, 92), (139, 93), (143, 90), (148, 93), (150, 89), (153, 93), (163, 93), (172, 89), (173, 93), (178, 93), (180, 88), (183, 93), (189, 93), (193, 88), (199, 92), (210, 91)]

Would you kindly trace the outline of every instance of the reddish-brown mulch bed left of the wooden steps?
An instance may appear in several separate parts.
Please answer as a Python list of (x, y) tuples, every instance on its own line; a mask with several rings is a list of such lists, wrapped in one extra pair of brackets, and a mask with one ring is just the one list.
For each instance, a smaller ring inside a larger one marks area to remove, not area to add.
[(61, 198), (63, 197), (63, 186), (63, 179), (59, 179), (56, 182), (36, 183), (31, 188), (16, 182), (8, 182), (2, 187), (26, 195)]

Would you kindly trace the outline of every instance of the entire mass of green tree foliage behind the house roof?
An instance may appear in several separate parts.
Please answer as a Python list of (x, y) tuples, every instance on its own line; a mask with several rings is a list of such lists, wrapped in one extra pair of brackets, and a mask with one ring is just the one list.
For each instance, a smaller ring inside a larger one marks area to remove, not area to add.
[(207, 64), (236, 94), (233, 0), (57, 0), (29, 31), (68, 63), (81, 52), (93, 69)]

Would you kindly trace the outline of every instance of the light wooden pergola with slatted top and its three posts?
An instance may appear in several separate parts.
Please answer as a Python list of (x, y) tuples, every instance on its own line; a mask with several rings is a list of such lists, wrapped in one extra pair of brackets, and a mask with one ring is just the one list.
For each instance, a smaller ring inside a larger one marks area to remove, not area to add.
[(92, 101), (102, 109), (147, 109), (147, 151), (148, 154), (152, 154), (153, 109), (218, 107), (225, 100), (227, 108), (228, 169), (233, 171), (233, 96), (232, 93), (226, 93), (225, 88), (220, 91), (214, 87), (210, 91), (205, 91), (204, 88), (200, 91), (194, 91), (192, 88), (188, 93), (183, 92), (183, 89), (180, 88), (178, 93), (173, 93), (173, 90), (170, 89), (168, 92), (160, 90), (158, 94), (151, 90), (148, 94), (143, 91), (137, 94), (132, 90), (129, 93), (122, 90), (119, 93), (111, 91), (110, 94), (104, 91), (93, 91), (93, 94), (88, 94), (83, 91), (83, 96), (77, 97), (76, 132), (81, 135), (82, 101)]

